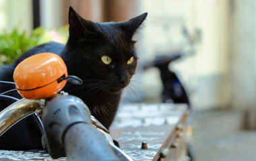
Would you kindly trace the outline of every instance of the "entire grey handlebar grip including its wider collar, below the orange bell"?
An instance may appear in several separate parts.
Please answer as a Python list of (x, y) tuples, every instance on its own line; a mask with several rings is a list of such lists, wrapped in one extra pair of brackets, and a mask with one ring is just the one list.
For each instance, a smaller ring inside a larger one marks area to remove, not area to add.
[(102, 134), (92, 127), (90, 110), (77, 97), (62, 95), (49, 101), (43, 109), (42, 123), (53, 156), (60, 157), (63, 152), (59, 147), (63, 146), (68, 160), (119, 160)]

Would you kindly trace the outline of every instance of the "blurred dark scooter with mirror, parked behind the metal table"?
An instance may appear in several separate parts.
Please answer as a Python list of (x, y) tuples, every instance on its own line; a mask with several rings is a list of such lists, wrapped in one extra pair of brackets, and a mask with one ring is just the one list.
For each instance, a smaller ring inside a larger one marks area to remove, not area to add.
[[(191, 103), (189, 101), (189, 95), (181, 83), (179, 76), (169, 68), (170, 63), (175, 60), (179, 60), (184, 56), (189, 56), (195, 54), (195, 44), (201, 40), (201, 31), (195, 30), (195, 34), (191, 35), (187, 32), (186, 28), (183, 28), (183, 35), (187, 40), (187, 45), (190, 47), (189, 51), (180, 50), (179, 52), (170, 52), (164, 54), (158, 54), (154, 60), (150, 63), (147, 63), (144, 66), (144, 70), (148, 68), (156, 67), (160, 71), (160, 76), (162, 80), (162, 94), (161, 99), (162, 103), (185, 103), (188, 105), (189, 109), (189, 120), (187, 123), (187, 127), (189, 131), (187, 131), (187, 135), (189, 138), (192, 137), (192, 123), (194, 119), (194, 111), (191, 108)], [(193, 144), (188, 145), (188, 156), (191, 158), (191, 161), (195, 158), (193, 153)]]

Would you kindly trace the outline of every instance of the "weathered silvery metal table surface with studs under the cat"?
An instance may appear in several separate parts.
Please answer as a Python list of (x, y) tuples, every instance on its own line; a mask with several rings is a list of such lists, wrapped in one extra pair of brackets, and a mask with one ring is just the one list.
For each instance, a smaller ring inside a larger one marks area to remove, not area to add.
[[(186, 118), (187, 105), (183, 104), (125, 104), (119, 108), (110, 128), (110, 134), (133, 160), (158, 160), (161, 150), (170, 148), (176, 142), (177, 127), (181, 123), (185, 124)], [(148, 144), (147, 150), (141, 149), (142, 142)], [(181, 155), (183, 154), (179, 154)], [(0, 160), (50, 161), (53, 159), (43, 150), (0, 150)]]

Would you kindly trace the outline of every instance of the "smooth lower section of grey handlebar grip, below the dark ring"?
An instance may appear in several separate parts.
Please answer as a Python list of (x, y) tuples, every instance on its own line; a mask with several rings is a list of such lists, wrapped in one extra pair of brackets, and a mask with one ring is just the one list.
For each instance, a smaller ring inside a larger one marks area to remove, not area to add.
[(87, 123), (76, 123), (65, 133), (68, 160), (117, 161), (99, 131)]

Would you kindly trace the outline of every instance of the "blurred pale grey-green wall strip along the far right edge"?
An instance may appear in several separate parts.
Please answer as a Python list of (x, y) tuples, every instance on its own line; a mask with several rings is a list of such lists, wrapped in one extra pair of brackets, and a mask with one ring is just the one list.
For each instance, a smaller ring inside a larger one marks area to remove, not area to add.
[(232, 107), (255, 107), (255, 14), (254, 0), (232, 0), (230, 52)]

